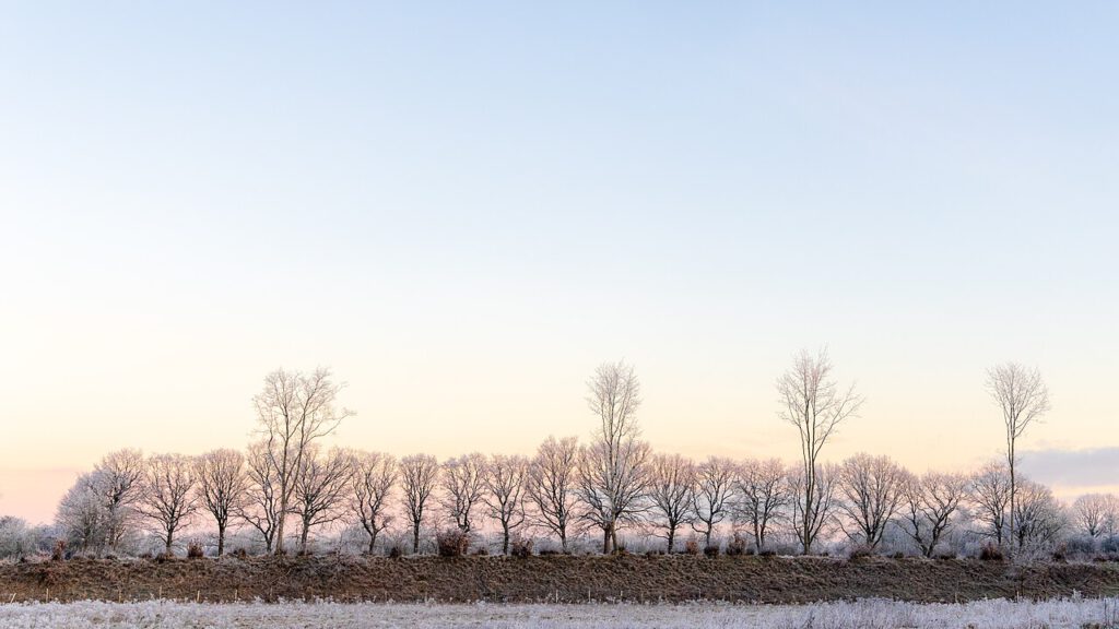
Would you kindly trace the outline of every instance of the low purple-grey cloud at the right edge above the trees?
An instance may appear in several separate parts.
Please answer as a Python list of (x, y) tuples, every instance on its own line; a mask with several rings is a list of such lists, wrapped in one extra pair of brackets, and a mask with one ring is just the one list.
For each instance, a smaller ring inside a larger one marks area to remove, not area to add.
[(1119, 447), (1032, 450), (1022, 453), (1018, 466), (1029, 478), (1054, 488), (1106, 491), (1119, 485)]

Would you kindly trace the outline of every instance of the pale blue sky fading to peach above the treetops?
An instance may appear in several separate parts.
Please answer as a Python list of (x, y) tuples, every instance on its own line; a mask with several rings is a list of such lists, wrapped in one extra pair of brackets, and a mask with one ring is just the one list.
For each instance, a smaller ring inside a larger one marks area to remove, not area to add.
[(1117, 22), (0, 2), (0, 514), (246, 444), (278, 367), (346, 383), (335, 442), (449, 457), (589, 436), (624, 358), (655, 448), (791, 460), (774, 382), (824, 346), (866, 397), (825, 459), (997, 457), (1016, 360), (1053, 402), (1023, 469), (1119, 485)]

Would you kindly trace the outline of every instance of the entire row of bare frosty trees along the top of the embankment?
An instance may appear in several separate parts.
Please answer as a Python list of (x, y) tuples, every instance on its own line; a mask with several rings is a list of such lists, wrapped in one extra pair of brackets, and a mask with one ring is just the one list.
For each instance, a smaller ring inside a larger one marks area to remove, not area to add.
[(113, 452), (77, 479), (54, 526), (0, 520), (0, 553), (222, 555), (232, 538), (256, 553), (1119, 554), (1116, 496), (1064, 505), (1015, 473), (1016, 439), (1049, 410), (1036, 369), (989, 373), (1004, 461), (923, 475), (884, 456), (818, 461), (862, 404), (830, 372), (825, 351), (801, 353), (778, 381), (779, 416), (801, 443), (787, 466), (653, 452), (637, 422), (640, 383), (621, 362), (587, 382), (596, 426), (586, 441), (549, 436), (527, 457), (444, 461), (322, 448), (352, 414), (337, 405), (341, 385), (328, 369), (280, 369), (254, 397), (261, 439), (244, 451)]

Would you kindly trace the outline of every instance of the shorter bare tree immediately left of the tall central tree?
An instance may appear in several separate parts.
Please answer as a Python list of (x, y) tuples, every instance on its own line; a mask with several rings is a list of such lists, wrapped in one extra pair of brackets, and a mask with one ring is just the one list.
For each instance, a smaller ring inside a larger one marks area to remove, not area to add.
[(540, 443), (528, 469), (527, 494), (533, 505), (533, 520), (560, 538), (567, 552), (567, 528), (575, 509), (575, 466), (579, 440), (548, 436)]

